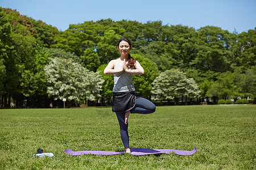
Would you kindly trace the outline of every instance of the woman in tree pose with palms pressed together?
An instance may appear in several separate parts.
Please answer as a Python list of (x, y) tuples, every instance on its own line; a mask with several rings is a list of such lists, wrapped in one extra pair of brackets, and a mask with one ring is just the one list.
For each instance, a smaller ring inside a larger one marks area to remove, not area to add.
[(131, 42), (120, 39), (117, 45), (121, 56), (109, 62), (104, 74), (114, 75), (113, 107), (120, 126), (121, 139), (126, 153), (130, 153), (128, 117), (130, 113), (148, 114), (155, 112), (151, 101), (138, 96), (133, 84), (133, 74), (144, 74), (141, 64), (131, 57)]

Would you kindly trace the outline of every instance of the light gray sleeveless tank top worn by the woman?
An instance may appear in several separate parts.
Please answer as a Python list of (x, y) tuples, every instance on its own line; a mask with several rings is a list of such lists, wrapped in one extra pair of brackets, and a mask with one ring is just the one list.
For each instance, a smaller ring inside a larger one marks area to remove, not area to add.
[[(120, 58), (117, 59), (114, 69), (121, 69)], [(131, 92), (135, 91), (133, 84), (133, 74), (126, 72), (114, 74), (114, 88), (113, 92)]]

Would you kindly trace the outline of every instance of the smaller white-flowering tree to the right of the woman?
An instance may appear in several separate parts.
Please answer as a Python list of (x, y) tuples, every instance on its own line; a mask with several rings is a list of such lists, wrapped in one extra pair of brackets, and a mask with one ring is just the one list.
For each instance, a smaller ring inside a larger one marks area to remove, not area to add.
[(187, 78), (185, 73), (177, 69), (166, 70), (160, 73), (152, 83), (152, 100), (172, 100), (176, 103), (179, 97), (198, 97), (199, 87), (193, 78)]

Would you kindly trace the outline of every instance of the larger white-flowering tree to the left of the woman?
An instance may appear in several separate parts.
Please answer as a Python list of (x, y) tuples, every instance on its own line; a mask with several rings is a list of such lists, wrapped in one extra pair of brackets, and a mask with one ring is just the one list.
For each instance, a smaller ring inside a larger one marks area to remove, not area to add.
[(47, 94), (53, 99), (67, 100), (96, 100), (100, 97), (101, 84), (104, 82), (101, 75), (89, 71), (73, 59), (51, 59), (44, 67), (47, 76)]

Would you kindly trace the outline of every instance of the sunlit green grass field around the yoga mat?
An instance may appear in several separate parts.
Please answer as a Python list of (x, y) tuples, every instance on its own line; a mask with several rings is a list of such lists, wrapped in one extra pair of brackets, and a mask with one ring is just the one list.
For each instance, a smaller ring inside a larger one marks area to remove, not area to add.
[[(0, 169), (255, 169), (256, 105), (157, 107), (129, 117), (130, 147), (193, 150), (192, 156), (71, 156), (122, 151), (111, 108), (0, 109)], [(42, 148), (55, 158), (31, 155)]]

